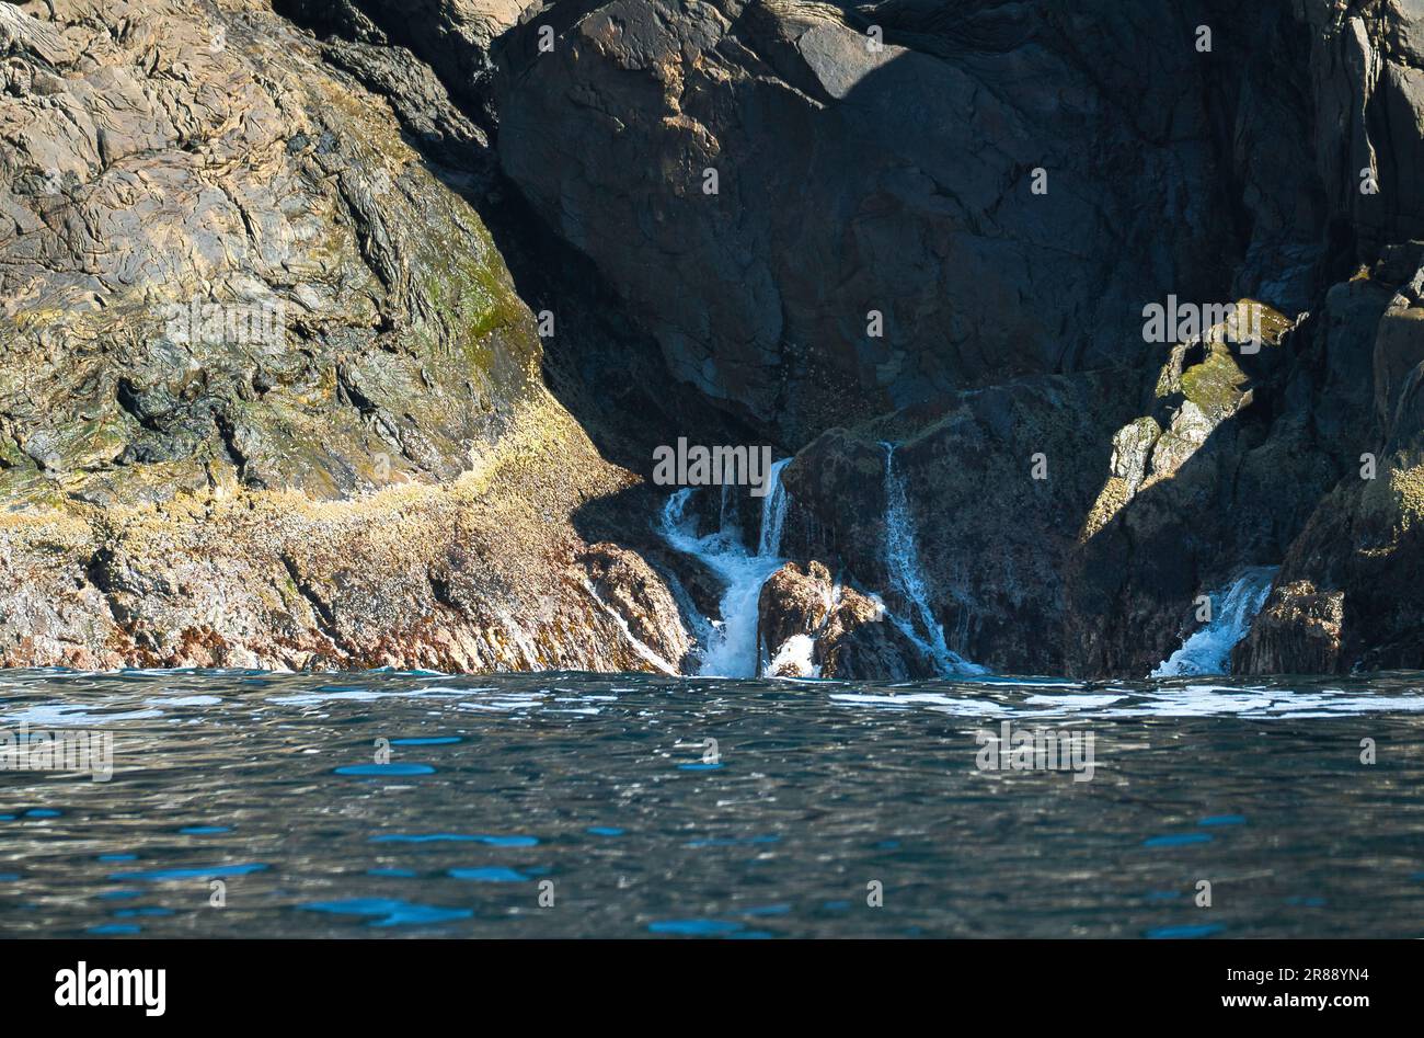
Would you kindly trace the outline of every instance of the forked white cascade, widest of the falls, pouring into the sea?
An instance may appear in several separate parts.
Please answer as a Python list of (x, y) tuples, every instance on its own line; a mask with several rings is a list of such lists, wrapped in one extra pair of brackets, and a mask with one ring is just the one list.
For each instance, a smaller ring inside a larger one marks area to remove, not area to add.
[(742, 543), (740, 526), (728, 522), (729, 509), (721, 509), (722, 526), (715, 533), (698, 536), (686, 515), (693, 489), (674, 493), (662, 509), (659, 533), (679, 552), (701, 559), (726, 585), (719, 610), (722, 619), (712, 622), (712, 636), (702, 656), (698, 673), (705, 677), (756, 677), (760, 666), (760, 646), (756, 643), (756, 607), (766, 577), (782, 567), (782, 529), (786, 523), (789, 495), (782, 486), (782, 469), (790, 458), (772, 465), (766, 496), (762, 498), (762, 529), (756, 552)]

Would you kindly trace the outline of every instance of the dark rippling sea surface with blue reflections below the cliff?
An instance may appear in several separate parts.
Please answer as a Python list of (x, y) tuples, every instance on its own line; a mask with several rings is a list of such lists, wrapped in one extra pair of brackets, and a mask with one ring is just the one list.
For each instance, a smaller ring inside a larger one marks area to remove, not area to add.
[(6, 937), (1424, 937), (1424, 674), (11, 670), (0, 733)]

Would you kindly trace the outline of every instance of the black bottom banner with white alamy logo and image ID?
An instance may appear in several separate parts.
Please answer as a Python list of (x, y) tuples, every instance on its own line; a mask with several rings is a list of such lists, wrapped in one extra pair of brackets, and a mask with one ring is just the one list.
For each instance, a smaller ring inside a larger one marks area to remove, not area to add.
[[(1309, 1014), (1347, 1025), (1360, 1012), (1411, 1005), (1405, 985), (1417, 987), (1424, 950), (1410, 941), (9, 941), (0, 957), (13, 1024), (81, 1011), (88, 1022), (185, 1027), (310, 1018), (369, 1028), (441, 1011), (490, 1025), (506, 1012), (587, 1024), (664, 1004), (729, 1022), (739, 1009), (816, 1017), (860, 1004), (950, 1018), (985, 1005), (1035, 1014), (1077, 1005), (1089, 1017), (1145, 1005), (1165, 1019)], [(137, 974), (100, 980), (111, 970), (165, 971), (162, 1014), (148, 1012), (158, 974), (142, 975), (151, 984)], [(121, 998), (125, 987), (137, 1004), (77, 1004)]]

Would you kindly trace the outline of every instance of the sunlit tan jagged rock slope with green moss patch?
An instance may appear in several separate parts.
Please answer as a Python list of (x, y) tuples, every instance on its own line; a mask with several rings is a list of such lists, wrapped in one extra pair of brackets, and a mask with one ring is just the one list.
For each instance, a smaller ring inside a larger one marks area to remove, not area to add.
[(256, 1), (6, 10), (0, 663), (646, 667), (656, 575), (595, 597), (575, 529), (635, 479), (433, 165), (483, 147), (436, 77)]

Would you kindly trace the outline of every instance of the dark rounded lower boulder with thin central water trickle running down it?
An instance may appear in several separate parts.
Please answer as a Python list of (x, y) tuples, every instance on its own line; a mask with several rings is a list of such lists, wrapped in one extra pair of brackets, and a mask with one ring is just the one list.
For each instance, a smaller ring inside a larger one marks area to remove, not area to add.
[[(879, 590), (897, 616), (911, 606), (887, 553), (887, 456), (917, 533), (918, 570), (934, 589), (948, 649), (997, 670), (1057, 672), (1064, 644), (1062, 572), (1078, 545), (1136, 392), (1121, 375), (1042, 376), (951, 395), (854, 432), (827, 431), (783, 481), (795, 502), (793, 553), (834, 560)], [(1034, 479), (1034, 455), (1042, 479)]]

